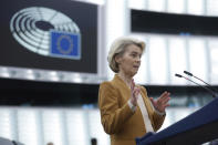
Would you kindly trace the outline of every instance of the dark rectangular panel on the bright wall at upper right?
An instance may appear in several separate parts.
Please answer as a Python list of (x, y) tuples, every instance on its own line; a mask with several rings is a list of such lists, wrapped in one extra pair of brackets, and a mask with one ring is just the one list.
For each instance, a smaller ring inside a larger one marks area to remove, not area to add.
[(133, 32), (218, 35), (218, 18), (131, 10)]

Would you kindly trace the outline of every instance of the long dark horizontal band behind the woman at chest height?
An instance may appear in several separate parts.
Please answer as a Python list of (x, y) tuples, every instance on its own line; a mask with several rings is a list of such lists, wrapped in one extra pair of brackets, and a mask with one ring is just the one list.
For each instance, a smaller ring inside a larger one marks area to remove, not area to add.
[[(35, 82), (17, 79), (0, 79), (0, 105), (18, 106), (97, 106), (98, 84), (75, 84)], [(157, 97), (164, 91), (170, 92), (172, 106), (205, 105), (212, 100), (210, 93), (199, 86), (144, 85), (149, 97)], [(214, 86), (217, 89), (218, 86)], [(187, 102), (179, 103), (180, 99)], [(196, 101), (197, 99), (197, 101)], [(177, 101), (176, 104), (174, 101)]]

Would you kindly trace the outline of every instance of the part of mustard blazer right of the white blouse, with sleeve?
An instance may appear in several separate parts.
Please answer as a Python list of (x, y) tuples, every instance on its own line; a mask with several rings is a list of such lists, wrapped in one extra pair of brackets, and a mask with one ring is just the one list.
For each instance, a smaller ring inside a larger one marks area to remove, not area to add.
[[(148, 96), (147, 96), (147, 91), (146, 91), (146, 89), (145, 89), (144, 86), (142, 86), (142, 87), (143, 87), (143, 89), (142, 89), (142, 90), (143, 90), (143, 93), (145, 93), (145, 96), (148, 97)], [(148, 99), (148, 100), (149, 100), (149, 99)], [(156, 132), (156, 131), (158, 131), (158, 130), (162, 127), (166, 114), (165, 114), (165, 115), (159, 115), (159, 114), (154, 110), (154, 106), (153, 106), (150, 100), (149, 100), (149, 103), (150, 103), (150, 106), (153, 107), (153, 113), (152, 113), (152, 117), (153, 117), (153, 118), (152, 118), (152, 121), (153, 121), (154, 131)]]

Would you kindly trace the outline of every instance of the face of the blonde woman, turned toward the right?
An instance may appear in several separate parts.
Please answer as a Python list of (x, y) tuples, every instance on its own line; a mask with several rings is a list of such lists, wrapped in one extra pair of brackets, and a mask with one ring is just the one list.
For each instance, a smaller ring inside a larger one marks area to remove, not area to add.
[(116, 58), (120, 72), (134, 76), (141, 66), (142, 49), (135, 44), (131, 44), (125, 49), (123, 55)]

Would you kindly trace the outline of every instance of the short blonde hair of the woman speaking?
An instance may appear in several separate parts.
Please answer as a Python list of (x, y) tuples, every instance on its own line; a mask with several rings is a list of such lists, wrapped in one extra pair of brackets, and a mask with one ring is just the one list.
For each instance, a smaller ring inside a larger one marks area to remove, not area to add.
[(118, 38), (112, 43), (108, 55), (107, 55), (107, 61), (110, 63), (110, 68), (115, 73), (120, 71), (118, 64), (115, 61), (115, 56), (122, 55), (125, 52), (126, 48), (131, 44), (139, 46), (143, 52), (145, 51), (145, 42), (134, 39), (134, 38), (129, 38), (129, 37)]

